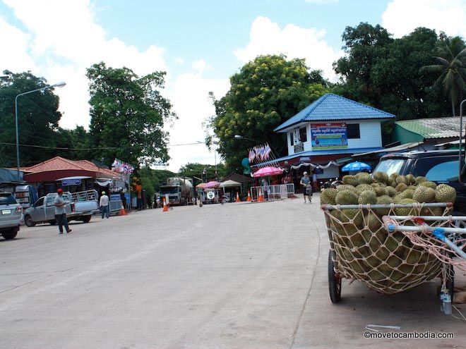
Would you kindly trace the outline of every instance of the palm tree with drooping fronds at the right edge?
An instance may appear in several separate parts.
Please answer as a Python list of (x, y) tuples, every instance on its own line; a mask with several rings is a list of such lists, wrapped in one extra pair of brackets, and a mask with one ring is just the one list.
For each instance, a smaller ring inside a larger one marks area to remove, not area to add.
[(450, 97), (451, 109), (455, 115), (455, 105), (462, 100), (466, 92), (466, 47), (461, 37), (446, 37), (436, 48), (437, 63), (423, 66), (420, 73), (439, 73), (435, 85), (443, 85), (443, 92)]

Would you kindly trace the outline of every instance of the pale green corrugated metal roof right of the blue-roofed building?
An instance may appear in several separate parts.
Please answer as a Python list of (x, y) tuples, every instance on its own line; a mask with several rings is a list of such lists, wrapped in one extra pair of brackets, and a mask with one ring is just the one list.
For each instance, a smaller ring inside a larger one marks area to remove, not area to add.
[(451, 116), (449, 118), (417, 118), (414, 120), (397, 121), (395, 123), (405, 128), (405, 130), (417, 133), (426, 139), (460, 137), (459, 116)]

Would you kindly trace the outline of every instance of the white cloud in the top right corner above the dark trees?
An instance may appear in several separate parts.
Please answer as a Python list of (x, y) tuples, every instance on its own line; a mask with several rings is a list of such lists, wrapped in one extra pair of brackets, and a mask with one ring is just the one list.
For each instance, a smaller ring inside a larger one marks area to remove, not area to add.
[(394, 37), (417, 27), (443, 30), (447, 35), (466, 37), (466, 1), (393, 0), (382, 15), (382, 26)]

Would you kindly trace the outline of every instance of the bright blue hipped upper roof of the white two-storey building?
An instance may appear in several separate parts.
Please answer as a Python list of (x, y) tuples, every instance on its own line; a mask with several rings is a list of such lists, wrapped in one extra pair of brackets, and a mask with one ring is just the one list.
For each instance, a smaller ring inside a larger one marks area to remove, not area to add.
[(275, 128), (280, 132), (297, 123), (305, 121), (333, 121), (333, 120), (359, 120), (374, 118), (394, 118), (393, 114), (378, 110), (372, 106), (366, 106), (337, 94), (324, 94), (316, 102), (309, 104), (298, 114), (289, 118), (285, 123)]

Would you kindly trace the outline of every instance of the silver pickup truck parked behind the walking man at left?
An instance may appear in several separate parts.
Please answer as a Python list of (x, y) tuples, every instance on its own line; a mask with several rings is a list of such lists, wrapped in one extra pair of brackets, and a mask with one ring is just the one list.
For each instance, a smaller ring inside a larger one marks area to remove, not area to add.
[[(24, 223), (26, 226), (35, 226), (38, 223), (56, 224), (54, 200), (56, 193), (41, 197), (24, 212)], [(64, 192), (66, 202), (66, 218), (68, 221), (83, 221), (88, 223), (92, 214), (99, 211), (97, 202), (97, 191), (87, 190), (85, 192)]]

